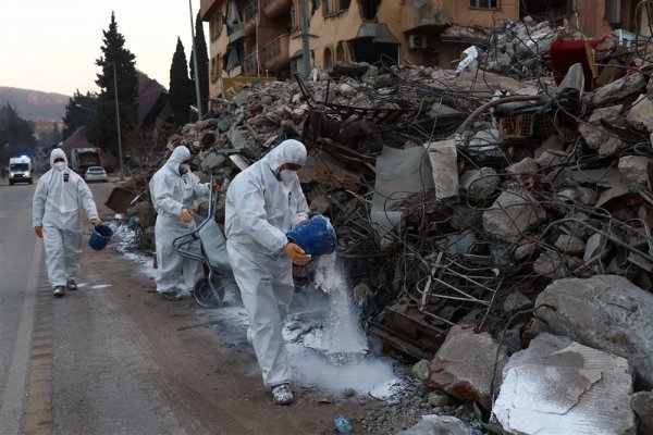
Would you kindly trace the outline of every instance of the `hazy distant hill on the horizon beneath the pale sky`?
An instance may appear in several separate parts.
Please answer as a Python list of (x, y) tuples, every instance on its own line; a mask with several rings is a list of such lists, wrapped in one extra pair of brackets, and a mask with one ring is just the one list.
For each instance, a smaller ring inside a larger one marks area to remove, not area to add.
[(28, 121), (61, 121), (71, 97), (40, 90), (0, 86), (0, 105), (9, 104)]

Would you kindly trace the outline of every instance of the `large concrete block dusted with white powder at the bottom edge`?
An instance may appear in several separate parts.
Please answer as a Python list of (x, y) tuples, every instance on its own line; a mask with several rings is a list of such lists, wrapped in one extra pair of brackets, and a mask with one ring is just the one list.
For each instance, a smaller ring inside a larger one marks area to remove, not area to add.
[(492, 412), (510, 434), (632, 435), (631, 393), (626, 359), (542, 334), (505, 365)]

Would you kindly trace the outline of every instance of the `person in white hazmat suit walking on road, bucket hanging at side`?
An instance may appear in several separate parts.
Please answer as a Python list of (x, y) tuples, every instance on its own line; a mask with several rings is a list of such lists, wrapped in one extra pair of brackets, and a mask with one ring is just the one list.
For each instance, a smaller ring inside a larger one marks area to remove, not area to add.
[(77, 289), (82, 252), (79, 203), (95, 226), (102, 222), (88, 185), (67, 167), (62, 149), (52, 150), (50, 166), (36, 185), (32, 200), (32, 226), (44, 239), (48, 279), (54, 297), (61, 297), (66, 289)]

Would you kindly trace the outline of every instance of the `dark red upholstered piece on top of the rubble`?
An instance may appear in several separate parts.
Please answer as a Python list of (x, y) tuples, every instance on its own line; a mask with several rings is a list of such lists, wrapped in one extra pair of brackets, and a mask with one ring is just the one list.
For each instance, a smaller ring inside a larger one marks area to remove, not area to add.
[[(590, 59), (586, 49), (588, 42), (592, 49), (596, 48), (603, 39), (564, 39), (562, 36), (555, 38), (549, 49), (551, 59), (551, 69), (553, 70), (553, 79), (559, 85), (569, 67), (575, 63), (582, 65), (584, 75), (584, 90), (593, 90), (596, 86), (595, 79), (590, 67)], [(593, 59), (591, 59), (593, 62)]]

